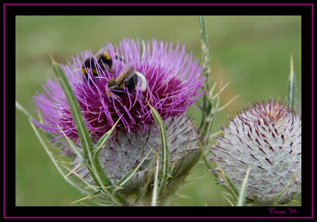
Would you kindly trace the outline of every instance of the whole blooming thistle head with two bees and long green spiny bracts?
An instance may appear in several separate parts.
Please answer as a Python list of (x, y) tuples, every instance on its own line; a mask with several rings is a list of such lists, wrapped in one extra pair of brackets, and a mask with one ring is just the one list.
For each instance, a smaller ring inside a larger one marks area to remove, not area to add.
[(70, 174), (92, 191), (72, 185), (110, 205), (173, 194), (201, 154), (185, 112), (203, 93), (192, 53), (179, 43), (124, 39), (53, 69), (58, 80), (34, 96), (40, 121), (32, 123), (74, 157)]

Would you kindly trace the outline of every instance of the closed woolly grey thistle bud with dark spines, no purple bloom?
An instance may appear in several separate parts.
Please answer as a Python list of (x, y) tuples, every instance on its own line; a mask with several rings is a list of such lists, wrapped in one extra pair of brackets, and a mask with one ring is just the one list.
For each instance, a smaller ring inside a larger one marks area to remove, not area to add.
[[(288, 203), (301, 193), (301, 119), (280, 100), (258, 101), (247, 105), (230, 125), (222, 128), (220, 145), (210, 149), (211, 161), (217, 161), (232, 183), (240, 190), (245, 172), (247, 201), (270, 205)], [(212, 170), (215, 175), (219, 172)], [(294, 179), (294, 181), (293, 181)], [(227, 187), (223, 179), (217, 179)]]

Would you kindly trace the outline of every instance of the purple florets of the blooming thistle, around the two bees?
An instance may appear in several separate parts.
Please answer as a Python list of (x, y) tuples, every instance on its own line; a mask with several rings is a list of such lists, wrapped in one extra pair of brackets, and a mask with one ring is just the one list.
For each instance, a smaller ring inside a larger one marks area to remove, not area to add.
[[(198, 99), (204, 79), (201, 77), (202, 67), (198, 67), (198, 59), (192, 61), (193, 55), (186, 53), (185, 46), (179, 48), (179, 43), (173, 50), (172, 43), (152, 40), (152, 46), (150, 41), (147, 45), (142, 41), (141, 50), (139, 39), (136, 42), (124, 39), (119, 46), (108, 43), (107, 53), (111, 58), (118, 58), (112, 59), (111, 70), (106, 69), (105, 64), (96, 63), (97, 74), (85, 67), (88, 71), (85, 76), (81, 68), (85, 60), (93, 56), (90, 51), (81, 52), (81, 56), (73, 57), (72, 63), (62, 65), (92, 138), (102, 137), (121, 115), (116, 131), (154, 130), (147, 101), (162, 119), (168, 119), (181, 116)], [(141, 90), (138, 83), (131, 92), (123, 85), (123, 96), (116, 97), (115, 90), (109, 90), (108, 81), (116, 78), (127, 63), (132, 63), (135, 70), (143, 74), (147, 88)], [(33, 97), (41, 110), (39, 115), (43, 123), (33, 120), (34, 124), (57, 135), (56, 141), (63, 137), (59, 127), (70, 139), (78, 140), (70, 108), (58, 81), (48, 79), (43, 89), (46, 94), (37, 92)]]

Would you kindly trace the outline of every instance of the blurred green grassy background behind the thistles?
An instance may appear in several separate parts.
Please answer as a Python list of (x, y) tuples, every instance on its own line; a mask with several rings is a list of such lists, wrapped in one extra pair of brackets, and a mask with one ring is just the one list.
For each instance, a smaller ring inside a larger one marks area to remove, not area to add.
[[(229, 86), (221, 93), (221, 105), (237, 94), (238, 99), (217, 114), (213, 132), (229, 124), (227, 115), (254, 99), (285, 100), (289, 57), (294, 58), (298, 86), (296, 111), (301, 113), (301, 18), (299, 16), (210, 16), (205, 17), (209, 54), (212, 56), (212, 83), (222, 80)], [(201, 61), (198, 17), (145, 16), (36, 16), (16, 17), (16, 100), (37, 118), (32, 96), (43, 92), (42, 84), (54, 78), (49, 54), (55, 61), (67, 63), (72, 55), (91, 49), (96, 52), (106, 43), (119, 43), (123, 38), (146, 42), (157, 39), (186, 45), (187, 52)], [(200, 120), (198, 112), (189, 113)], [(188, 177), (190, 182), (179, 190), (172, 201), (181, 206), (229, 205), (215, 185), (214, 176), (200, 161)], [(205, 176), (203, 179), (197, 179)], [(84, 196), (74, 190), (59, 174), (34, 134), (28, 119), (16, 111), (16, 205), (70, 206)], [(300, 196), (296, 199), (300, 205)], [(85, 201), (85, 203), (91, 203)]]

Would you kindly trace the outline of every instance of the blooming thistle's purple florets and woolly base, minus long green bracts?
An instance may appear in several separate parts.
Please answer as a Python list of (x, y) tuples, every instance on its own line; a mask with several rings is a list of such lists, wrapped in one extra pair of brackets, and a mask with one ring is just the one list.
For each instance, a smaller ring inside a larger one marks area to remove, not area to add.
[[(194, 152), (197, 139), (185, 114), (187, 107), (202, 94), (204, 78), (198, 60), (193, 61), (185, 46), (179, 49), (178, 44), (174, 50), (172, 43), (156, 40), (152, 46), (150, 41), (147, 45), (142, 41), (142, 50), (139, 41), (126, 39), (119, 46), (108, 43), (101, 49), (95, 55), (90, 51), (82, 52), (81, 56), (77, 54), (72, 63), (62, 65), (94, 146), (118, 121), (112, 137), (98, 151), (99, 163), (96, 164), (112, 184), (116, 184), (144, 161), (120, 192), (139, 190), (150, 181), (154, 157), (163, 153), (158, 150), (160, 125), (152, 117), (152, 107), (164, 121), (167, 134), (164, 141), (170, 139), (169, 144), (164, 145), (170, 149), (167, 157), (170, 164), (164, 169), (167, 169), (165, 173), (172, 172), (174, 165), (172, 175), (176, 182), (169, 180), (169, 185), (173, 185), (167, 192), (172, 187), (176, 189), (200, 154)], [(85, 153), (61, 85), (57, 80), (48, 79), (43, 88), (46, 94), (34, 96), (43, 121), (33, 120), (34, 124), (57, 135), (54, 141), (65, 134), (75, 141), (77, 154)], [(76, 174), (96, 184), (94, 174), (99, 172), (88, 171), (86, 165), (79, 167), (83, 158), (79, 156), (73, 162)]]

